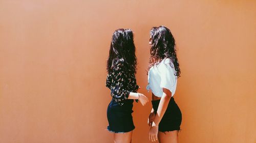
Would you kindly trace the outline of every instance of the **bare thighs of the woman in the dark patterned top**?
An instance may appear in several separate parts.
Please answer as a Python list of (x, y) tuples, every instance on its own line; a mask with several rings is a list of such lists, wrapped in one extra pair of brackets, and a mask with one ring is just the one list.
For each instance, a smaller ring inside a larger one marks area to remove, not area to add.
[(131, 143), (133, 131), (126, 133), (114, 133), (115, 143)]

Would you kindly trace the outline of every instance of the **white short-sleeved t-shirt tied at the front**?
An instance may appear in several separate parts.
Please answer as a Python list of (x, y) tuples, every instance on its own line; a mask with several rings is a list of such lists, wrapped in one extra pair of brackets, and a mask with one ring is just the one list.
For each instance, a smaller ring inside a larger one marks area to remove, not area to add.
[(151, 90), (155, 96), (162, 97), (165, 88), (174, 96), (178, 78), (175, 73), (174, 64), (170, 59), (164, 59), (158, 65), (151, 67), (148, 71), (147, 91)]

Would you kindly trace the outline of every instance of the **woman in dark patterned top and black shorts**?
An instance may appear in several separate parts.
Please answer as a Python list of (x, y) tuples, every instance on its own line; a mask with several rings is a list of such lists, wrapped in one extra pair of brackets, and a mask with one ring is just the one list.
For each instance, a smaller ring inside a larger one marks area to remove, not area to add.
[(137, 93), (135, 45), (130, 29), (114, 32), (107, 62), (106, 87), (111, 90), (112, 100), (108, 106), (108, 130), (114, 133), (114, 142), (131, 142), (134, 130), (132, 108), (134, 99), (142, 105), (147, 97)]

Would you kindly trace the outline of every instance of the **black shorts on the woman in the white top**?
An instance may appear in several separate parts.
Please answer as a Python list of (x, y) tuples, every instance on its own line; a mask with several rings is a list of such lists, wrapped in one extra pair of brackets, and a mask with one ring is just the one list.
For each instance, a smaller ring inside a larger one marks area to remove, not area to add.
[[(160, 100), (152, 101), (155, 113), (157, 112)], [(158, 130), (161, 132), (180, 130), (182, 115), (179, 106), (175, 103), (172, 97), (168, 107), (159, 123)]]

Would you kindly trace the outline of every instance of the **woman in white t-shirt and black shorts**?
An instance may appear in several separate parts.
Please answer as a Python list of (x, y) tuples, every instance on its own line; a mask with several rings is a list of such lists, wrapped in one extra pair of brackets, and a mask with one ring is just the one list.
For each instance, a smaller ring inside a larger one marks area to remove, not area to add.
[(151, 126), (148, 138), (160, 143), (177, 143), (182, 115), (173, 97), (180, 77), (175, 39), (165, 26), (153, 27), (150, 35), (147, 90), (152, 91), (153, 108), (148, 117)]

